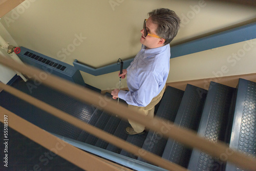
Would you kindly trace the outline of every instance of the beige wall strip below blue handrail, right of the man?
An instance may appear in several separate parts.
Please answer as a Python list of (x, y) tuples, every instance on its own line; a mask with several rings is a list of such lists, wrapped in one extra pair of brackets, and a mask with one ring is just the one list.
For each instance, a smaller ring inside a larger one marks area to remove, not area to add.
[(168, 82), (256, 73), (255, 66), (256, 39), (246, 40), (170, 59)]

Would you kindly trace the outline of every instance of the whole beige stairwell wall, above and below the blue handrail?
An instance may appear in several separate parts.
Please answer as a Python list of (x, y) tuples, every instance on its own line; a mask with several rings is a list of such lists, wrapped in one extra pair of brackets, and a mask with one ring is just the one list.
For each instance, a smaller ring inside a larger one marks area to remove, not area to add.
[[(118, 58), (124, 60), (135, 56), (141, 46), (139, 37), (143, 19), (147, 18), (147, 12), (160, 7), (174, 10), (182, 19), (173, 45), (256, 18), (255, 7), (215, 1), (26, 0), (0, 22), (18, 46), (71, 65), (74, 59), (78, 59), (98, 68), (115, 63)], [(80, 41), (76, 37), (80, 37)], [(215, 77), (214, 73), (221, 71), (223, 66), (227, 66), (223, 75), (253, 73), (255, 67), (252, 66), (256, 61), (254, 44), (240, 60), (236, 59), (235, 64), (227, 61), (229, 55), (238, 53), (244, 44), (241, 42), (171, 59), (167, 81)], [(75, 45), (75, 49), (70, 49), (71, 45)], [(118, 72), (101, 76), (81, 73), (84, 82), (101, 90), (119, 87)], [(125, 80), (122, 80), (122, 87), (126, 87)]]

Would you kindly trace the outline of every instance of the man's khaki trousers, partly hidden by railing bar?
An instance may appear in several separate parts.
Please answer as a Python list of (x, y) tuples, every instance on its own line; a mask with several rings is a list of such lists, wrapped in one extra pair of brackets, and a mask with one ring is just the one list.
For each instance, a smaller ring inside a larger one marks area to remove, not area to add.
[[(163, 88), (163, 90), (156, 96), (154, 97), (150, 104), (148, 104), (145, 107), (140, 107), (140, 106), (135, 106), (135, 105), (128, 105), (128, 108), (133, 109), (135, 111), (139, 111), (144, 115), (150, 116), (150, 117), (154, 117), (154, 111), (155, 111), (155, 105), (157, 105), (157, 103), (161, 100), (161, 98), (163, 97), (163, 93), (165, 91), (165, 86)], [(134, 131), (137, 133), (141, 133), (145, 130), (145, 126), (141, 125), (139, 123), (136, 123), (130, 119), (128, 119), (129, 123), (131, 124), (131, 126), (133, 127)]]

